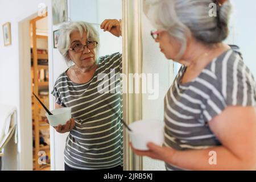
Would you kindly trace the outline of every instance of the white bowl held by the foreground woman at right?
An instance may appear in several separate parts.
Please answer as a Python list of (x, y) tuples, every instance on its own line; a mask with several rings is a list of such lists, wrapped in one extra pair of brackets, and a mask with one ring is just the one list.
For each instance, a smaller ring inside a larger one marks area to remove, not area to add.
[(147, 143), (162, 146), (164, 141), (164, 122), (157, 120), (135, 121), (129, 125), (131, 144), (137, 150), (148, 150)]

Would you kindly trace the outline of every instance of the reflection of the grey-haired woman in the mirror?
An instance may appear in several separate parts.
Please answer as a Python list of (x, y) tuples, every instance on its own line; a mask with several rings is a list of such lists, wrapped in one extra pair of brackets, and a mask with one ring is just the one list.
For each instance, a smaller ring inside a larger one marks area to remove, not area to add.
[[(121, 35), (118, 20), (107, 19), (101, 28)], [(59, 133), (70, 131), (64, 151), (65, 170), (122, 170), (121, 53), (97, 59), (99, 36), (89, 23), (67, 22), (60, 31), (58, 49), (69, 68), (57, 78), (52, 94), (55, 108), (72, 109), (70, 121), (55, 127)], [(110, 80), (113, 73), (114, 81)], [(108, 88), (103, 86), (106, 83)]]

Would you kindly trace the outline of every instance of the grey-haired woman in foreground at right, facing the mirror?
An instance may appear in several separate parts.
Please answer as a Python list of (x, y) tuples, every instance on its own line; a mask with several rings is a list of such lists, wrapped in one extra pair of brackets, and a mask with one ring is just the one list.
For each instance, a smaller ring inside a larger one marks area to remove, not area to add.
[(232, 5), (211, 0), (160, 0), (147, 16), (167, 59), (182, 66), (164, 99), (164, 144), (137, 155), (167, 170), (245, 170), (256, 164), (255, 81), (228, 36)]

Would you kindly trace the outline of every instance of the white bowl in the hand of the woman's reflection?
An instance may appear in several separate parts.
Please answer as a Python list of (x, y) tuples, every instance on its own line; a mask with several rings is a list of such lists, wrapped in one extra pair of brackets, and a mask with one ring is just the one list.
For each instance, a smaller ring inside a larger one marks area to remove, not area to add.
[(46, 117), (49, 121), (49, 125), (58, 126), (65, 125), (69, 119), (71, 119), (71, 108), (61, 107), (59, 109), (52, 110), (53, 115), (46, 113)]

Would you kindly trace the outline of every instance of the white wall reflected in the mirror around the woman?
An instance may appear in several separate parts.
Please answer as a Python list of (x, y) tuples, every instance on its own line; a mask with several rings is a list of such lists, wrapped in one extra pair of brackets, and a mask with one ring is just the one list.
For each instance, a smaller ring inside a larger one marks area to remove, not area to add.
[[(120, 9), (119, 9), (120, 7)], [(113, 9), (115, 11), (113, 11)], [(116, 38), (110, 35), (108, 32), (103, 32), (100, 30), (100, 23), (103, 19), (110, 18), (121, 18), (121, 0), (76, 0), (68, 1), (68, 17), (72, 21), (85, 21), (93, 23), (94, 27), (100, 33), (100, 53), (101, 55), (106, 55), (114, 52), (121, 52), (122, 42), (121, 38)], [(57, 30), (60, 25), (53, 26), (53, 30)], [(50, 75), (50, 90), (53, 89), (53, 84), (60, 73), (67, 69), (63, 57), (61, 57), (57, 49), (53, 49), (53, 62), (52, 65), (52, 77)], [(54, 101), (53, 96), (50, 97), (50, 108), (53, 109)], [(51, 144), (54, 144), (54, 149), (51, 148), (51, 157), (54, 156), (54, 166), (55, 170), (64, 169), (64, 148), (65, 139), (68, 134), (59, 134), (56, 131), (51, 130)], [(53, 152), (54, 151), (54, 152)]]

